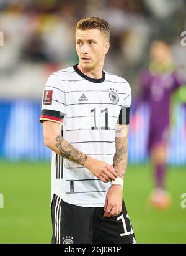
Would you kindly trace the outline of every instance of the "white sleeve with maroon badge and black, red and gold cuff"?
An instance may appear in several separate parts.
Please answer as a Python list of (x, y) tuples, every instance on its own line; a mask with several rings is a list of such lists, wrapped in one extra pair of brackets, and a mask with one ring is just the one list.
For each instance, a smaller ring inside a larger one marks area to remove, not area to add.
[(43, 120), (61, 123), (65, 115), (65, 92), (63, 83), (57, 75), (53, 74), (50, 75), (45, 85), (39, 121), (41, 123)]

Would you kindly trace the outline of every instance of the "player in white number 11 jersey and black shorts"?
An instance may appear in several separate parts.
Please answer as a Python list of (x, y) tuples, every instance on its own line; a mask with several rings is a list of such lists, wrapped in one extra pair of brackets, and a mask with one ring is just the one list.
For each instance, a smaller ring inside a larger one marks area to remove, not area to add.
[(50, 75), (43, 93), (45, 145), (52, 150), (52, 243), (135, 243), (123, 201), (131, 88), (103, 71), (110, 26), (76, 27), (79, 64)]

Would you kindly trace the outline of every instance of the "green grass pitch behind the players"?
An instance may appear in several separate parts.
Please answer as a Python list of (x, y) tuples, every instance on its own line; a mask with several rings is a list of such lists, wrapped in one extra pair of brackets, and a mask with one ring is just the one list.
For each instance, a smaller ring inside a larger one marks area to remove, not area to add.
[[(148, 164), (128, 165), (124, 199), (138, 243), (186, 243), (186, 168), (170, 167), (167, 187), (173, 204), (157, 211), (147, 204), (153, 188)], [(0, 162), (0, 243), (50, 243), (50, 163)], [(2, 197), (2, 196), (1, 196)]]

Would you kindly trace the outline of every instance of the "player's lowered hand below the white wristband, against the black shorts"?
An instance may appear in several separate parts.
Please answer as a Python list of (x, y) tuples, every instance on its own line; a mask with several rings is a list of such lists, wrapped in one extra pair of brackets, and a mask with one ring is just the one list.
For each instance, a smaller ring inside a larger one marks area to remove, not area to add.
[(115, 217), (122, 211), (123, 187), (112, 185), (107, 192), (103, 217)]

